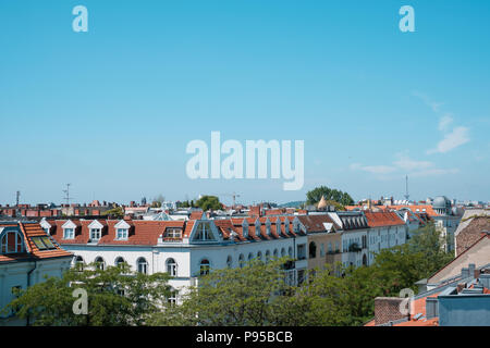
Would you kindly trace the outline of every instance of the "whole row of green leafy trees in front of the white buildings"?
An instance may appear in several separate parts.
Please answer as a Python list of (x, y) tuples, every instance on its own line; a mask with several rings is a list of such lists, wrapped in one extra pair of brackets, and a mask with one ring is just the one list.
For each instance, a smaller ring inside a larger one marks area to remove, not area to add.
[[(376, 297), (417, 291), (415, 282), (451, 261), (441, 246), (429, 225), (407, 244), (381, 251), (370, 266), (315, 270), (299, 286), (285, 282), (286, 259), (215, 270), (182, 306), (168, 302), (167, 274), (132, 273), (126, 265), (70, 270), (20, 294), (8, 310), (37, 325), (362, 325), (373, 316)], [(87, 315), (73, 314), (74, 287), (87, 290)]]

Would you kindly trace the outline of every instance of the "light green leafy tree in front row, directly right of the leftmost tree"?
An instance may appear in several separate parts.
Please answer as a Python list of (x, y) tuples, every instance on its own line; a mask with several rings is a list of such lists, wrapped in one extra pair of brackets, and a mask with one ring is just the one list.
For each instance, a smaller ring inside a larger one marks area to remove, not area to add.
[(154, 325), (262, 326), (275, 325), (281, 313), (285, 259), (252, 261), (238, 269), (213, 270), (201, 276), (183, 303), (157, 313)]

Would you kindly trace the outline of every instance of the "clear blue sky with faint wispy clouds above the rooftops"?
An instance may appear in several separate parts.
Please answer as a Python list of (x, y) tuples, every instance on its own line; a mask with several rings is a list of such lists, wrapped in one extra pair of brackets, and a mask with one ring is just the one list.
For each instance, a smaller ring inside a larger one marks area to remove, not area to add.
[[(81, 202), (402, 198), (405, 174), (416, 199), (489, 200), (489, 15), (487, 0), (0, 0), (0, 202), (58, 203), (66, 183)], [(305, 140), (304, 188), (188, 179), (186, 144), (211, 130)]]

